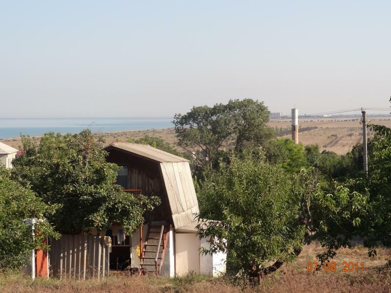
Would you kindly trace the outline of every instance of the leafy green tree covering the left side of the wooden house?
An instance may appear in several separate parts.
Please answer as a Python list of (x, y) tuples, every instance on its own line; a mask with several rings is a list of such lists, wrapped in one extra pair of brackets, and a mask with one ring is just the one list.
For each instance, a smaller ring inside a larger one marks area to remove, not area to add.
[(49, 219), (60, 233), (104, 230), (121, 222), (131, 233), (143, 224), (143, 213), (158, 198), (133, 197), (116, 185), (118, 167), (108, 163), (102, 138), (90, 130), (79, 134), (46, 133), (39, 145), (22, 137), (24, 154), (13, 161), (13, 177), (48, 205), (58, 205)]

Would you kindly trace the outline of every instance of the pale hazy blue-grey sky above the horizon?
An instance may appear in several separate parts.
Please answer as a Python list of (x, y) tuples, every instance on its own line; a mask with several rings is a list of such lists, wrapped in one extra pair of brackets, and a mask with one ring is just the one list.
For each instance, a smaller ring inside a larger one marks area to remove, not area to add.
[(390, 15), (376, 0), (0, 0), (0, 117), (389, 107)]

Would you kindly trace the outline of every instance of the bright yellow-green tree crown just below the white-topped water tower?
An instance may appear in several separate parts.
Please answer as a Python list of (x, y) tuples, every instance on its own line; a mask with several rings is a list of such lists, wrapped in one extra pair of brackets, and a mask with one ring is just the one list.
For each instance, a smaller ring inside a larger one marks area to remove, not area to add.
[(307, 166), (303, 144), (281, 138), (271, 141), (266, 147), (266, 157), (271, 164), (280, 165), (288, 172), (298, 172)]

